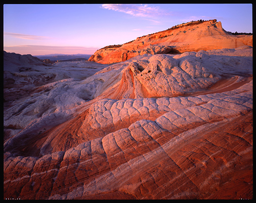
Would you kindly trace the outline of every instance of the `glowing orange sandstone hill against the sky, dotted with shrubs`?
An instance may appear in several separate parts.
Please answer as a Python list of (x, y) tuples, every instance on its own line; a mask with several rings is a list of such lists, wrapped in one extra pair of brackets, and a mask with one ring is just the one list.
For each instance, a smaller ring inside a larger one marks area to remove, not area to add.
[(217, 20), (195, 21), (138, 37), (122, 46), (99, 49), (89, 58), (89, 61), (111, 64), (126, 61), (144, 53), (175, 54), (186, 51), (235, 49), (244, 45), (252, 46), (252, 35), (232, 35), (226, 32), (221, 22)]

